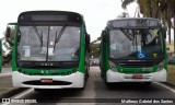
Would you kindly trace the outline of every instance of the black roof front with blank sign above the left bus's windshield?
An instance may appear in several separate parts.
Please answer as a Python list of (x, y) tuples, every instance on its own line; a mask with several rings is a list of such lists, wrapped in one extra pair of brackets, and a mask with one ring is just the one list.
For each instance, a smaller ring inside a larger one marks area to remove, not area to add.
[(82, 22), (83, 16), (70, 11), (26, 11), (19, 15), (18, 22), (55, 21), (55, 22)]

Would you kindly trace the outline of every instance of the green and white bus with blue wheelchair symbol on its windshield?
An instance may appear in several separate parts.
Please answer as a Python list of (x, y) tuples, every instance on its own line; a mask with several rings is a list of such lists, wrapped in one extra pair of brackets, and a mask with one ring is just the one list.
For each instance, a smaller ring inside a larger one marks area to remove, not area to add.
[(100, 68), (107, 84), (165, 82), (165, 32), (156, 19), (110, 20), (102, 32)]

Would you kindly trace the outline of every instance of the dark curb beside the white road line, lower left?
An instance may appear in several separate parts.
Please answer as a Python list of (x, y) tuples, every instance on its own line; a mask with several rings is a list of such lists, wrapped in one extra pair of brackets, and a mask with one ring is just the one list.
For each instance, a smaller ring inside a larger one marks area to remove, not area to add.
[(8, 98), (8, 97), (11, 97), (20, 92), (23, 92), (27, 90), (27, 88), (19, 88), (19, 89), (12, 89), (11, 91), (9, 92), (5, 92), (3, 94), (0, 95), (0, 98)]

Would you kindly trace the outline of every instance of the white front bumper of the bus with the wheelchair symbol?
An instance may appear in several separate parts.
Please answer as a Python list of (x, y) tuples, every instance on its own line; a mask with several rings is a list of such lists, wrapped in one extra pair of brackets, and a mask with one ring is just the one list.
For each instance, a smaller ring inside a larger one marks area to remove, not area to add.
[(126, 74), (107, 70), (106, 82), (166, 82), (166, 70), (163, 69), (153, 73), (140, 73), (142, 79), (133, 79), (137, 74)]

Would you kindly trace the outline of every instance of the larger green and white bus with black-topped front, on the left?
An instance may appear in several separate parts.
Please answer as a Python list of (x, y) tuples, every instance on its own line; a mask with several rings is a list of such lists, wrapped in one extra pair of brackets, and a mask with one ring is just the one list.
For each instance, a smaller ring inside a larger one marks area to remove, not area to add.
[[(14, 25), (12, 82), (16, 88), (83, 89), (89, 77), (90, 35), (81, 14), (22, 12)], [(11, 28), (7, 27), (7, 35)]]

